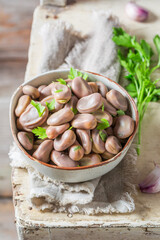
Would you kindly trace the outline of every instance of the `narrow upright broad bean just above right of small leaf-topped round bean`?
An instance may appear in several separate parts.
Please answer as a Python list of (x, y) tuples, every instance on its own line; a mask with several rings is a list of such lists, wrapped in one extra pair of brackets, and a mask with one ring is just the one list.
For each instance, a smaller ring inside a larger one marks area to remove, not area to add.
[(89, 154), (92, 150), (92, 141), (90, 136), (90, 130), (76, 129), (76, 134), (84, 149), (85, 154)]

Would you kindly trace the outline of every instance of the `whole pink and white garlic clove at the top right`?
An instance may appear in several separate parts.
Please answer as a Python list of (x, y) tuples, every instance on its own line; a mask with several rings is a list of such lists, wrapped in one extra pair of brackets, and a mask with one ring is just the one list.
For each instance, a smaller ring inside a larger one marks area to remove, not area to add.
[(127, 16), (134, 21), (143, 22), (148, 18), (148, 11), (135, 2), (128, 2), (125, 10)]

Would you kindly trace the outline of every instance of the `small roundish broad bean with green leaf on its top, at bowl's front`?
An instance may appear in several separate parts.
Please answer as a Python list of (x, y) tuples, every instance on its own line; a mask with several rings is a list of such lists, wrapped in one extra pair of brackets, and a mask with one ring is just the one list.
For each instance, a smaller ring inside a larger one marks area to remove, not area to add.
[(83, 147), (77, 141), (75, 141), (75, 143), (69, 148), (69, 157), (74, 161), (79, 161), (83, 155)]

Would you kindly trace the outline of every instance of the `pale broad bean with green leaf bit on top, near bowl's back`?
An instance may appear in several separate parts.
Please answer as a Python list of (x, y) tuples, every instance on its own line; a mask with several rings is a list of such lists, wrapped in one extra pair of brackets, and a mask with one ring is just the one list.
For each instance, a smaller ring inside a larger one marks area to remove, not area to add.
[(55, 100), (59, 103), (67, 103), (71, 99), (71, 89), (59, 82), (55, 82), (51, 92)]

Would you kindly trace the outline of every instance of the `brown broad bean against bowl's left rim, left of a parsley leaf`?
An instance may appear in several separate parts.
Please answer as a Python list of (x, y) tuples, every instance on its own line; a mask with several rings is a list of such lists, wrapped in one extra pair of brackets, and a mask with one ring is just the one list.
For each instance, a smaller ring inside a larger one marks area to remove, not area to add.
[(33, 133), (28, 132), (18, 132), (17, 138), (21, 145), (26, 150), (31, 150), (33, 148)]

